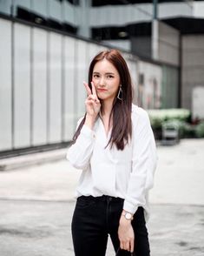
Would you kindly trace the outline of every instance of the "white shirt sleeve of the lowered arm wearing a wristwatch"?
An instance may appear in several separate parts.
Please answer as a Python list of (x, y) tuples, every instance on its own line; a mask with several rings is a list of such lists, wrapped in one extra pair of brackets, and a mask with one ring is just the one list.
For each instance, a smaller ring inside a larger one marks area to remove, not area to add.
[(141, 111), (137, 125), (133, 126), (132, 171), (123, 209), (135, 213), (139, 206), (146, 205), (146, 192), (153, 186), (157, 162), (155, 138), (148, 113)]

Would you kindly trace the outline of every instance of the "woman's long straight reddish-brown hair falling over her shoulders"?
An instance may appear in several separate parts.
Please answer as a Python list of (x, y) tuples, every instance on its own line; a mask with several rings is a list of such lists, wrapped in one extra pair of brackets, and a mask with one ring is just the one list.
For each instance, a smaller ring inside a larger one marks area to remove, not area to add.
[[(132, 109), (132, 84), (131, 77), (128, 71), (128, 65), (122, 57), (120, 51), (115, 49), (99, 52), (91, 61), (89, 65), (89, 88), (91, 90), (91, 81), (95, 64), (98, 61), (106, 58), (120, 75), (122, 84), (122, 100), (115, 97), (113, 108), (110, 117), (113, 117), (113, 128), (109, 143), (111, 147), (116, 146), (118, 150), (123, 150), (124, 146), (132, 136), (132, 122), (131, 122), (131, 109)], [(76, 133), (73, 137), (74, 143), (79, 136), (82, 125), (85, 122), (86, 115), (82, 119), (81, 124), (78, 126)], [(108, 146), (107, 145), (107, 146)]]

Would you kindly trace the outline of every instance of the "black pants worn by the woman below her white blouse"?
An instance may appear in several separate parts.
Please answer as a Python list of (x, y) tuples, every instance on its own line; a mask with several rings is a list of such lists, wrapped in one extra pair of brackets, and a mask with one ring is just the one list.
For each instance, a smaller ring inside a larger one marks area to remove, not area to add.
[[(76, 256), (104, 256), (108, 235), (115, 252), (120, 247), (118, 226), (121, 218), (123, 199), (109, 196), (79, 197), (72, 219), (72, 238)], [(132, 226), (135, 232), (135, 255), (149, 256), (148, 231), (143, 208), (135, 212)], [(122, 250), (120, 255), (130, 255)]]

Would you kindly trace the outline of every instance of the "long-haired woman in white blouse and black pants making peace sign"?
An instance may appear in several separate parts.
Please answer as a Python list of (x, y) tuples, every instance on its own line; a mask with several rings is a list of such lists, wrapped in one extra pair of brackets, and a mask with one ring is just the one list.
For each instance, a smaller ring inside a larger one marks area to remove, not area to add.
[(104, 256), (108, 235), (120, 255), (147, 256), (147, 196), (156, 165), (148, 114), (132, 104), (131, 78), (119, 51), (97, 54), (84, 86), (86, 114), (67, 154), (82, 169), (72, 219), (76, 256)]

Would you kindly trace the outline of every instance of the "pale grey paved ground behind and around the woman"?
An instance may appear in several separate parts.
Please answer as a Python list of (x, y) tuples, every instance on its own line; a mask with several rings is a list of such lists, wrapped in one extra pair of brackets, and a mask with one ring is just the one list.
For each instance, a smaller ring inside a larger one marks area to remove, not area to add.
[[(204, 255), (204, 139), (159, 146), (158, 155), (151, 255)], [(63, 160), (0, 172), (0, 256), (74, 255), (70, 220), (79, 175)]]

